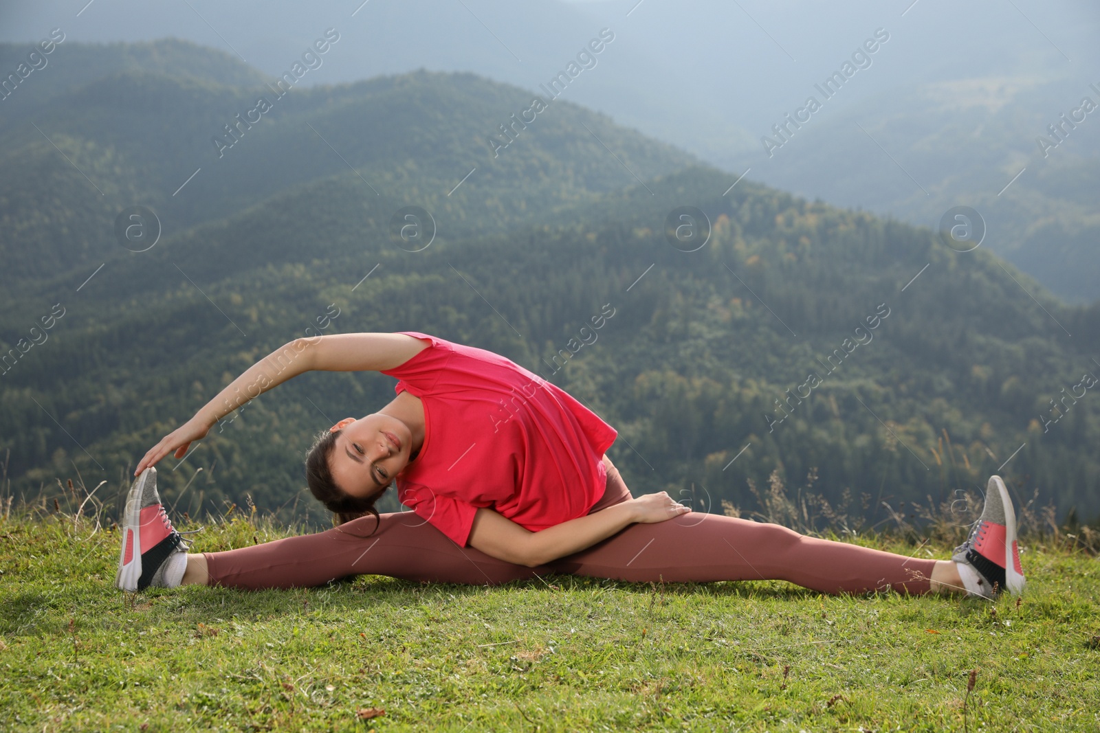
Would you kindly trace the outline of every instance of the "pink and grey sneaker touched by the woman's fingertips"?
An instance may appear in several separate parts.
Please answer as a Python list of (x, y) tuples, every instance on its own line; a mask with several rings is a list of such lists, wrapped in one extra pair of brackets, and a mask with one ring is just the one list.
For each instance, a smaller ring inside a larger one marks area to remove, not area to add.
[(178, 586), (187, 548), (187, 541), (172, 526), (164, 511), (161, 495), (156, 492), (156, 469), (150, 466), (134, 480), (127, 496), (114, 585), (128, 592), (150, 586)]

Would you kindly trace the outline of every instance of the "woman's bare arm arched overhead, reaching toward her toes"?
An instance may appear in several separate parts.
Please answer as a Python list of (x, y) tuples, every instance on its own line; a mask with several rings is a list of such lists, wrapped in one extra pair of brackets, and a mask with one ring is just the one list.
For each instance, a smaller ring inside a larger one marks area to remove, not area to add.
[(400, 333), (345, 333), (295, 338), (260, 359), (206, 403), (195, 417), (165, 435), (138, 464), (134, 476), (174, 453), (187, 454), (219, 420), (254, 397), (310, 370), (381, 371), (398, 367), (427, 347)]

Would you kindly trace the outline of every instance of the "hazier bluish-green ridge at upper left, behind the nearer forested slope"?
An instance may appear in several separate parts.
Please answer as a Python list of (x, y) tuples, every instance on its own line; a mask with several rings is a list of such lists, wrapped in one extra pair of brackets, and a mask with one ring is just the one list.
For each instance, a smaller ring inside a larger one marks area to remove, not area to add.
[[(151, 55), (174, 57), (188, 45), (166, 42), (164, 54)], [(189, 47), (191, 56), (207, 55)], [(391, 213), (408, 197), (440, 215), (453, 211), (444, 222), (449, 234), (472, 233), (506, 226), (535, 200), (538, 207), (575, 201), (634, 180), (629, 171), (649, 177), (693, 160), (564, 100), (529, 112), (531, 95), (472, 75), (419, 71), (321, 88), (234, 86), (219, 81), (228, 73), (196, 76), (198, 63), (182, 64), (179, 76), (156, 65), (134, 70), (128, 62), (136, 52), (124, 48), (63, 44), (53, 54), (54, 84), (63, 86), (63, 69), (74, 65), (69, 56), (81, 62), (78, 84), (56, 91), (45, 107), (4, 108), (0, 149), (8, 153), (0, 160), (20, 175), (0, 181), (0, 282), (18, 288), (26, 276), (129, 256), (113, 230), (131, 206), (155, 211), (164, 232), (179, 231), (297, 184), (353, 175), (363, 195), (386, 200)], [(92, 78), (96, 67), (103, 75)], [(260, 99), (270, 111), (255, 112)], [(525, 112), (534, 116), (530, 125)], [(514, 140), (506, 147), (505, 123)], [(476, 229), (458, 210), (468, 203), (457, 203), (466, 201), (455, 186), (468, 174), (480, 182), (476, 206), (492, 213)], [(43, 216), (40, 201), (55, 211)]]

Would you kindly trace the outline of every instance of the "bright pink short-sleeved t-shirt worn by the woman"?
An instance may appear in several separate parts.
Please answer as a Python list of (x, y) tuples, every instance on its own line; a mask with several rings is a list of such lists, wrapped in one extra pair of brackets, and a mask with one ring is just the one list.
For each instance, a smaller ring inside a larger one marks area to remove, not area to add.
[(614, 427), (503, 356), (402, 333), (431, 342), (383, 371), (424, 404), (424, 445), (397, 476), (403, 504), (465, 546), (479, 508), (538, 532), (600, 500)]

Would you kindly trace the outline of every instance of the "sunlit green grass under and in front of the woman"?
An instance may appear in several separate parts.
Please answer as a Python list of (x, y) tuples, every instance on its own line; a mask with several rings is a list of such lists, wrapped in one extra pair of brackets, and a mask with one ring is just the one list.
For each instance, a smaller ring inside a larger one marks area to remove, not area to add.
[[(196, 549), (288, 532), (216, 523)], [(127, 597), (117, 543), (0, 519), (0, 730), (1100, 728), (1097, 559), (1054, 541), (1026, 547), (1019, 606), (571, 576)]]

